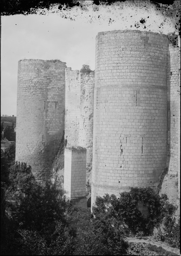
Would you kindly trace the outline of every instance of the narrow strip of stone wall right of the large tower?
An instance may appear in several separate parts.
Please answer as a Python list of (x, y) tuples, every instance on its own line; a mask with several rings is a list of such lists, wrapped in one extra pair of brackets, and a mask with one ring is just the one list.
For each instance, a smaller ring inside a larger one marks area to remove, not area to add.
[(173, 35), (168, 46), (167, 163), (161, 193), (171, 202), (180, 197), (180, 43)]

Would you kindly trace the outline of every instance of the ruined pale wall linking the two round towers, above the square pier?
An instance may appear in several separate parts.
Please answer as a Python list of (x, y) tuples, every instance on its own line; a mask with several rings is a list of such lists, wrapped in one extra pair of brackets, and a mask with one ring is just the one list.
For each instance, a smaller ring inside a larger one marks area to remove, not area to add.
[(66, 69), (65, 139), (67, 147), (87, 149), (87, 165), (92, 165), (94, 72)]

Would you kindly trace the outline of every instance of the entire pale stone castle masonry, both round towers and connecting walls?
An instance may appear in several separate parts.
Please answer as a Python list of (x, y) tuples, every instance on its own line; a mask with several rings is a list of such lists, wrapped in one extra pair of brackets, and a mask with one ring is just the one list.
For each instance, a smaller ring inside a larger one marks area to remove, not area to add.
[(150, 186), (174, 202), (180, 197), (179, 86), (175, 34), (100, 32), (95, 72), (59, 60), (20, 60), (16, 160), (31, 165), (37, 180), (48, 179), (64, 137), (68, 197), (84, 198), (87, 168), (92, 205), (96, 196), (119, 196), (129, 186)]

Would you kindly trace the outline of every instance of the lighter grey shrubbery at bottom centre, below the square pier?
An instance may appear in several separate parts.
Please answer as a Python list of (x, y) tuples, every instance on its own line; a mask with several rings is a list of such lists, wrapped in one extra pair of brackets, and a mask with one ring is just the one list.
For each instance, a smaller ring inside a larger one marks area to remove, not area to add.
[(106, 214), (94, 219), (90, 209), (75, 209), (67, 215), (72, 228), (73, 255), (122, 255), (128, 243), (118, 226)]

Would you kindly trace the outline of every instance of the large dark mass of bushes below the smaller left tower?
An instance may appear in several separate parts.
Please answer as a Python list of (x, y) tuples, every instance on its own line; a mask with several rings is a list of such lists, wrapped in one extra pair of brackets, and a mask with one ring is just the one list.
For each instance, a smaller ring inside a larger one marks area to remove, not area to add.
[[(65, 218), (70, 203), (55, 186), (37, 183), (26, 163), (10, 168), (10, 185), (5, 197), (7, 235), (1, 254), (65, 255), (70, 254), (72, 238)], [(54, 254), (55, 253), (55, 254)]]

